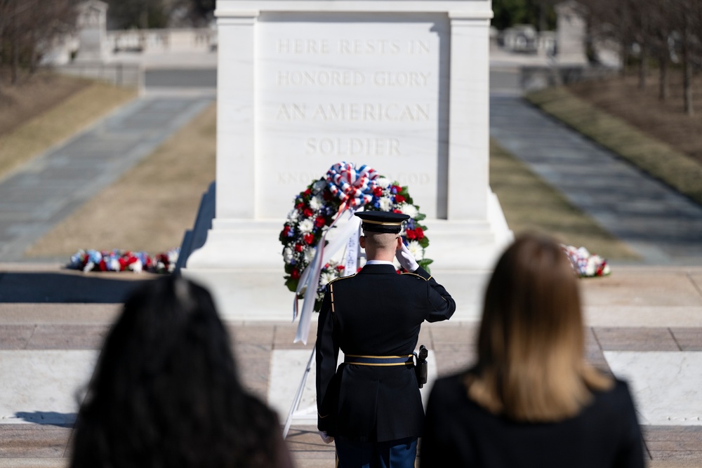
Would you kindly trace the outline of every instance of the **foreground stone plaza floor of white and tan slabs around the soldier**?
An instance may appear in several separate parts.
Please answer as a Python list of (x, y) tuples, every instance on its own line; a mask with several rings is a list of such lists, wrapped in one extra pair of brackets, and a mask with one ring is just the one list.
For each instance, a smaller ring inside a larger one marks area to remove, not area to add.
[[(118, 298), (151, 277), (0, 264), (0, 291), (17, 291), (16, 302), (0, 302), (0, 467), (66, 466), (77, 395), (119, 313)], [(50, 302), (31, 299), (37, 288), (30, 285), (37, 279)], [(611, 276), (583, 279), (581, 286), (586, 354), (595, 366), (630, 382), (649, 466), (702, 466), (702, 267), (615, 265)], [(71, 298), (70, 290), (84, 294)], [(432, 373), (446, 375), (470, 365), (476, 325), (449, 321), (423, 326), (420, 343), (432, 349)], [(294, 392), (285, 401), (271, 382), (285, 380), (294, 389), (312, 343), (293, 344), (297, 323), (262, 320), (227, 326), (246, 387), (277, 407), (284, 421)], [(296, 357), (295, 365), (276, 365), (290, 356)], [(307, 387), (313, 381), (311, 375)], [(313, 399), (310, 392), (303, 397), (302, 413)], [(293, 419), (286, 439), (297, 466), (333, 467), (333, 445), (322, 443), (310, 422), (304, 414)]]

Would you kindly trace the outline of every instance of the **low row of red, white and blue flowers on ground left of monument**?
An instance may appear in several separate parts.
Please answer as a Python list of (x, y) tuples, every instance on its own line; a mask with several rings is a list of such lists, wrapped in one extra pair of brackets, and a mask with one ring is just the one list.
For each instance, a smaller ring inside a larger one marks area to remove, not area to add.
[(78, 250), (67, 265), (84, 272), (147, 272), (171, 273), (176, 268), (180, 248), (171, 248), (153, 257), (131, 250)]

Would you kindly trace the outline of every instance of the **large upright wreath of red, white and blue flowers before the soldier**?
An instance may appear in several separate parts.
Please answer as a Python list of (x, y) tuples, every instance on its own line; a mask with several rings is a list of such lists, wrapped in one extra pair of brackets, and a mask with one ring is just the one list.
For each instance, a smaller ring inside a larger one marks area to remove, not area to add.
[[(293, 292), (298, 290), (300, 276), (314, 259), (322, 236), (347, 209), (409, 215), (400, 236), (420, 266), (428, 268), (432, 262), (425, 257), (425, 248), (429, 246), (429, 238), (424, 234), (427, 227), (420, 224), (426, 216), (413, 203), (407, 187), (378, 175), (368, 166), (357, 169), (352, 163), (337, 163), (324, 177), (300, 192), (294, 203), (279, 236), (283, 244), (285, 285)], [(333, 260), (323, 265), (314, 310), (322, 305), (326, 284), (341, 276), (343, 271), (344, 266)], [(298, 298), (303, 299), (303, 292)]]

